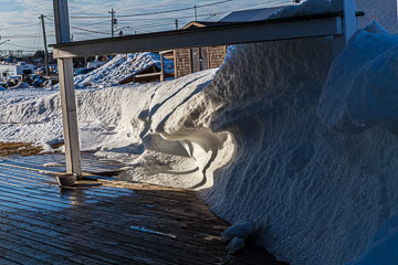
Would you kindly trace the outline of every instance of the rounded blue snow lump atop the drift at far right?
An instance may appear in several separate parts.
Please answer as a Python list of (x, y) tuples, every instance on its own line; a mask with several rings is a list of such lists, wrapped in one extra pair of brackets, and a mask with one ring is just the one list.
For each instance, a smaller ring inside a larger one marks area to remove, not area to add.
[(335, 131), (362, 132), (377, 125), (398, 130), (398, 36), (373, 22), (348, 47), (332, 65), (320, 117)]

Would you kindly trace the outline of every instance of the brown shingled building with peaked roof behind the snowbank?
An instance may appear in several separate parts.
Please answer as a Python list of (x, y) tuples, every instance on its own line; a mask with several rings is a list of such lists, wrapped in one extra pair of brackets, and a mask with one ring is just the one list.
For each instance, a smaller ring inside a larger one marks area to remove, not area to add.
[[(228, 24), (226, 22), (192, 21), (182, 30)], [(219, 67), (227, 54), (227, 45), (177, 49), (174, 54), (176, 78), (203, 70)]]

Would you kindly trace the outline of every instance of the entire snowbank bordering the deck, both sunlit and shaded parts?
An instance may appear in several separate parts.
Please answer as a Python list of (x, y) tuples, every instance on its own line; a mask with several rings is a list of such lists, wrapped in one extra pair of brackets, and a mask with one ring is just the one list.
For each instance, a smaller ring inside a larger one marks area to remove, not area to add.
[[(198, 188), (291, 264), (397, 264), (398, 36), (239, 45), (219, 70), (77, 91), (83, 149)], [(0, 92), (0, 141), (62, 139), (57, 92)]]

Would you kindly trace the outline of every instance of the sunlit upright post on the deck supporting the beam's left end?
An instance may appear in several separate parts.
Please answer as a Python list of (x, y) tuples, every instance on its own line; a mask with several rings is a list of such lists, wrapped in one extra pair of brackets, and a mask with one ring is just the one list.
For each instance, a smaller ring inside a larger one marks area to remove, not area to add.
[[(56, 43), (71, 42), (67, 0), (53, 0)], [(66, 172), (82, 177), (77, 108), (73, 82), (73, 60), (59, 59), (62, 119), (65, 139)]]

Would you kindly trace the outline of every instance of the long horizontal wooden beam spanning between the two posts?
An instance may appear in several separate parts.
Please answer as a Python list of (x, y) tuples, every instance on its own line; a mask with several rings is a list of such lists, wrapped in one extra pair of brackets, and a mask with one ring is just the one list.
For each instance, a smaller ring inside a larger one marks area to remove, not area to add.
[(52, 45), (55, 59), (341, 35), (343, 12), (229, 23)]

